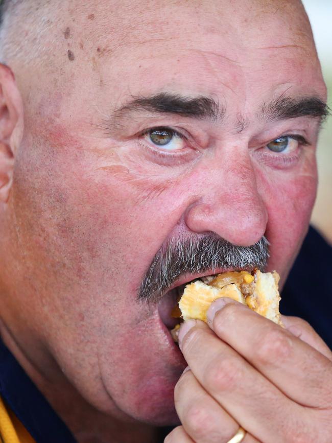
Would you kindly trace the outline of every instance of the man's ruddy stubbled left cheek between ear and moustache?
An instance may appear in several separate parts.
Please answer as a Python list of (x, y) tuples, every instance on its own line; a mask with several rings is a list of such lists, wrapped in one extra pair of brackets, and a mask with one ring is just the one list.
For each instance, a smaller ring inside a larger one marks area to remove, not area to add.
[(125, 293), (113, 299), (119, 306), (133, 300), (181, 216), (176, 179), (142, 177), (110, 161), (105, 168), (103, 158), (76, 146), (26, 152), (16, 171), (15, 215), (25, 225), (22, 250), (34, 285), (47, 278), (59, 299), (70, 288), (85, 308), (91, 290)]

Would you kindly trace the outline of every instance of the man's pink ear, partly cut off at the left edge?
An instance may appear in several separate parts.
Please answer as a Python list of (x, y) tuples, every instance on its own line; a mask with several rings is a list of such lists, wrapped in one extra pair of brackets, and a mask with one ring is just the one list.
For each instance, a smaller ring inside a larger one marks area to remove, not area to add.
[(7, 203), (23, 135), (23, 105), (14, 74), (0, 63), (0, 203)]

